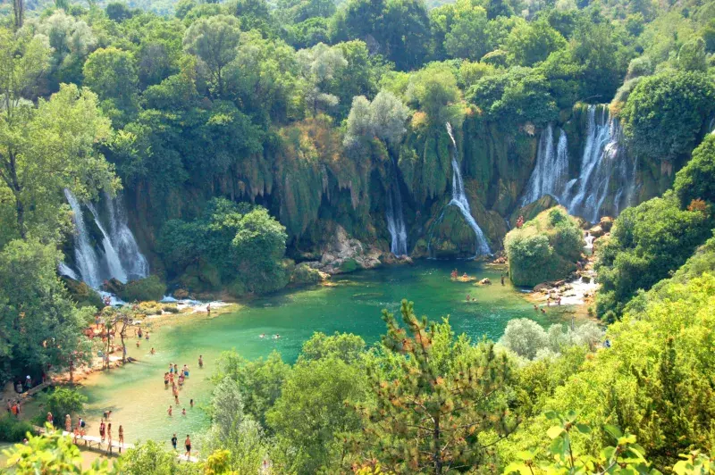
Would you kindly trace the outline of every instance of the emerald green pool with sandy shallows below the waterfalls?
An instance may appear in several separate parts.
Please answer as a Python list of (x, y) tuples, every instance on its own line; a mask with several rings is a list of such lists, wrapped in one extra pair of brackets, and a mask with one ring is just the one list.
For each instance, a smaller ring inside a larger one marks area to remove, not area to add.
[[(479, 279), (488, 277), (493, 285), (474, 287), (472, 283), (452, 282), (450, 271), (455, 267), (460, 275), (467, 271)], [(509, 283), (502, 287), (500, 273), (476, 262), (438, 261), (362, 271), (338, 276), (337, 287), (261, 298), (234, 314), (162, 327), (151, 334), (149, 342), (143, 341), (141, 348), (131, 346), (130, 355), (138, 358), (138, 363), (88, 380), (83, 392), (89, 398), (89, 434), (97, 435), (97, 418), (111, 409), (114, 437), (122, 424), (127, 442), (153, 438), (168, 446), (174, 432), (180, 441), (186, 434), (194, 436), (206, 428), (206, 416), (198, 406), (207, 404), (210, 398), (207, 378), (224, 350), (235, 348), (247, 358), (257, 358), (275, 349), (285, 360), (294, 361), (300, 346), (315, 331), (352, 332), (368, 344), (374, 343), (384, 330), (382, 309), (397, 312), (402, 298), (415, 301), (416, 312), (433, 320), (449, 314), (455, 331), (474, 339), (483, 335), (501, 337), (507, 321), (513, 318), (526, 316), (543, 324), (557, 318), (534, 312)], [(476, 303), (467, 303), (467, 294)], [(265, 338), (259, 337), (262, 333)], [(276, 333), (280, 339), (271, 337)], [(156, 348), (154, 355), (148, 353), (151, 346)], [(198, 370), (199, 354), (204, 356), (203, 370)], [(164, 389), (163, 379), (169, 362), (178, 363), (180, 368), (189, 364), (190, 376), (180, 394), (187, 416), (181, 416), (181, 409), (176, 408), (171, 418), (166, 413), (173, 404), (171, 390)], [(198, 404), (194, 409), (189, 409), (190, 398)]]

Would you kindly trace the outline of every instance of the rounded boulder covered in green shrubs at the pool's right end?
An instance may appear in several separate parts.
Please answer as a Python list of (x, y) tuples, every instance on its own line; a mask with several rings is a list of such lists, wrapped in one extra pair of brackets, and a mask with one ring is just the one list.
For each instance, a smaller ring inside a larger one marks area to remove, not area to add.
[(565, 279), (576, 271), (584, 249), (583, 231), (563, 207), (540, 212), (504, 238), (509, 278), (517, 286)]

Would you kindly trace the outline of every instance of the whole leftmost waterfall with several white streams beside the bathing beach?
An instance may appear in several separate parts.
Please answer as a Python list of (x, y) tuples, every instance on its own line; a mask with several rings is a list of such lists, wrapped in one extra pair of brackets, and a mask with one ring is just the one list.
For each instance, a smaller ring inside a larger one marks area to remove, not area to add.
[[(84, 204), (94, 219), (94, 224), (102, 235), (101, 246), (93, 246), (88, 233), (82, 205), (68, 189), (64, 196), (74, 212), (74, 255), (77, 270), (81, 279), (89, 287), (99, 288), (105, 279), (117, 279), (127, 282), (130, 279), (141, 279), (148, 275), (146, 257), (139, 251), (137, 241), (127, 226), (126, 215), (121, 205), (120, 198), (107, 199), (107, 212), (109, 214), (109, 231), (102, 222), (99, 212), (94, 204)], [(72, 277), (73, 270), (66, 264), (61, 264), (60, 272)], [(76, 273), (75, 273), (76, 276)]]

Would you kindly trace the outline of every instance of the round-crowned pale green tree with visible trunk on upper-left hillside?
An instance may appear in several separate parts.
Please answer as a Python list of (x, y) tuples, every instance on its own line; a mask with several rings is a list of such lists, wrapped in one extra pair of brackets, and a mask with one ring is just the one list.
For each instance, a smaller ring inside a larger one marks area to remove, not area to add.
[(199, 18), (186, 30), (184, 48), (206, 65), (211, 92), (216, 97), (223, 96), (223, 69), (236, 57), (239, 43), (239, 21), (230, 15)]

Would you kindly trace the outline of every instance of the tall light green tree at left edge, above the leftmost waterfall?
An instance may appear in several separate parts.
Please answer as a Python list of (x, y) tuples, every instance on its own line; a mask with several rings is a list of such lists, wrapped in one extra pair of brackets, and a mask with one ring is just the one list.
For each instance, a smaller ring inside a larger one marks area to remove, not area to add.
[(13, 90), (19, 73), (0, 78), (6, 95), (0, 115), (0, 178), (13, 194), (17, 235), (27, 237), (30, 230), (39, 238), (57, 238), (63, 188), (91, 199), (101, 189), (114, 193), (119, 186), (98, 151), (111, 129), (97, 108), (97, 96), (74, 85), (63, 85), (37, 107), (24, 102), (21, 90)]

